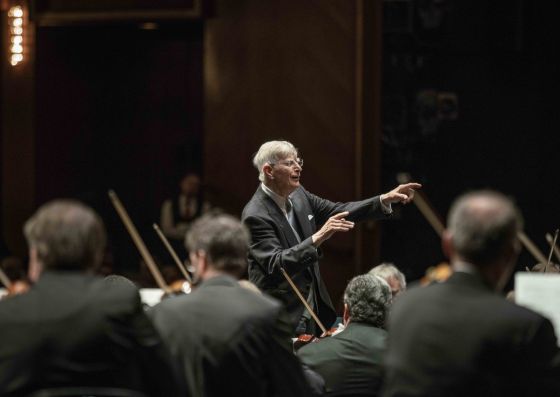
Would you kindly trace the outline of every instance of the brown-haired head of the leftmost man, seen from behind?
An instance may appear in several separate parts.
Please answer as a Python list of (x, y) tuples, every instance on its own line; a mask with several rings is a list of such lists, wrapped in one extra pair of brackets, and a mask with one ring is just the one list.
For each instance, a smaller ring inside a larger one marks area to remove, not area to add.
[(103, 258), (103, 222), (78, 201), (54, 200), (41, 206), (25, 223), (24, 234), (44, 269), (93, 268)]

